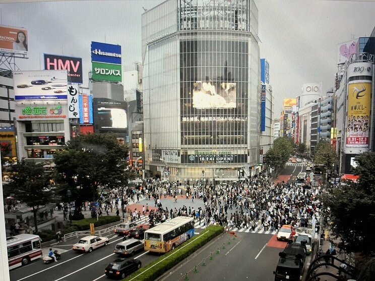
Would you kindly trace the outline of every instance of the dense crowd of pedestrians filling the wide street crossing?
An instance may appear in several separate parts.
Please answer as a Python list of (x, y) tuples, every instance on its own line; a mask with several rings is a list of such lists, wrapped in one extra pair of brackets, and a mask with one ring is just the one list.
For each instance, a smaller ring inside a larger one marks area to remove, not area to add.
[[(184, 215), (193, 216), (200, 223), (203, 221), (205, 226), (220, 224), (228, 230), (277, 231), (283, 224), (298, 227), (315, 224), (316, 214), (321, 207), (320, 194), (320, 186), (302, 189), (293, 183), (274, 183), (267, 173), (224, 185), (203, 185), (198, 182), (190, 186), (148, 179), (140, 188), (113, 189), (101, 196), (96, 212), (108, 215), (116, 210), (118, 215), (118, 209), (122, 207), (120, 198), (123, 196), (124, 212), (129, 211), (129, 202), (143, 205), (142, 209), (130, 212), (132, 220), (145, 215), (153, 224)], [(162, 205), (162, 199), (166, 198), (172, 198), (177, 204), (168, 209)], [(191, 200), (191, 204), (178, 204), (179, 198)], [(195, 202), (203, 202), (204, 207), (195, 208)]]

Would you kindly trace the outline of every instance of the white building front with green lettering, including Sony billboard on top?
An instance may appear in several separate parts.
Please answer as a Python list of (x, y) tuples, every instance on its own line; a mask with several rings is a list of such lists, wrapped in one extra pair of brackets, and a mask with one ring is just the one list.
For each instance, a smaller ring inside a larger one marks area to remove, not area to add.
[(67, 72), (14, 74), (18, 159), (51, 160), (70, 140)]

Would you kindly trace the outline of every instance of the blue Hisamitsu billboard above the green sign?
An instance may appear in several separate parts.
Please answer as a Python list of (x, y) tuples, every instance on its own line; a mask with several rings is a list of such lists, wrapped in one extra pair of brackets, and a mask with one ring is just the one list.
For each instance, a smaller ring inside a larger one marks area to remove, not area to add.
[(91, 61), (121, 65), (121, 46), (92, 41)]

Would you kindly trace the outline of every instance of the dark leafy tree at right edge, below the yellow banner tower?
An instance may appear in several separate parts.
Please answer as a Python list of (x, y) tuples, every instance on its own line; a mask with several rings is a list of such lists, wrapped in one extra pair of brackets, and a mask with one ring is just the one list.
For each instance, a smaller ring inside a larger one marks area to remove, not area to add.
[(333, 188), (324, 196), (332, 233), (343, 242), (347, 252), (375, 252), (372, 227), (375, 225), (375, 152), (356, 157), (353, 173), (359, 180)]

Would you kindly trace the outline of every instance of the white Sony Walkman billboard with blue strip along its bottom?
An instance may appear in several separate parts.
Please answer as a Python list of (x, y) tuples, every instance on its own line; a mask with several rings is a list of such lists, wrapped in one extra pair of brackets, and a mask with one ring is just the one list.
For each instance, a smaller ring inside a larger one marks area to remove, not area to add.
[(66, 70), (13, 72), (15, 100), (67, 99)]

